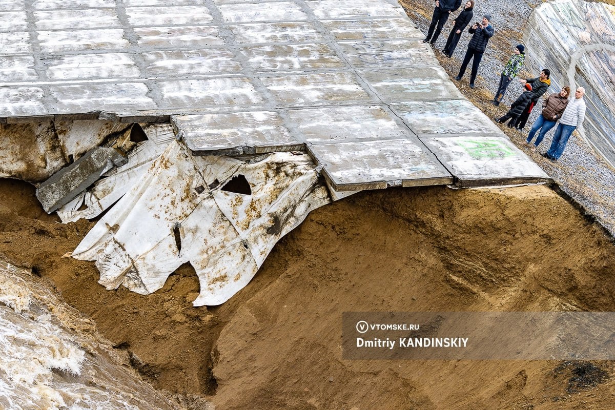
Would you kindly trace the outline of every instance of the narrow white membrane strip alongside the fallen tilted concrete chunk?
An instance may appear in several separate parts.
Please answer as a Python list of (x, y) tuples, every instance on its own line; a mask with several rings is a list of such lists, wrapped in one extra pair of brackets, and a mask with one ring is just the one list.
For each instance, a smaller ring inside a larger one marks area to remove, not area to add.
[(111, 207), (145, 174), (154, 159), (169, 146), (169, 142), (175, 140), (170, 125), (143, 126), (143, 131), (149, 140), (138, 143), (137, 147), (129, 152), (127, 164), (113, 168), (105, 174), (105, 178), (99, 179), (88, 191), (57, 211), (63, 223), (74, 222), (80, 218), (96, 218)]

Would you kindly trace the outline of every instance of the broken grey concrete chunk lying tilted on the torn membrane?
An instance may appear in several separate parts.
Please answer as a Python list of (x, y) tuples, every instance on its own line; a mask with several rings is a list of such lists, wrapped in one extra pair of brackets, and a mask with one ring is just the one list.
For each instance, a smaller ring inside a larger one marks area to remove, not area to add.
[(127, 157), (115, 148), (94, 148), (42, 183), (36, 189), (36, 197), (43, 209), (52, 213), (71, 202), (103, 174), (127, 162)]

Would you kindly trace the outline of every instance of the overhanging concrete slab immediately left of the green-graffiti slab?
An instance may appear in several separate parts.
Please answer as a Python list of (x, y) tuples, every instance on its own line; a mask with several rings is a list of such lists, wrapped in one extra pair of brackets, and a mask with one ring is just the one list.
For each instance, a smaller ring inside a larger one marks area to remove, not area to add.
[(416, 139), (320, 144), (308, 152), (335, 191), (453, 183), (453, 176)]

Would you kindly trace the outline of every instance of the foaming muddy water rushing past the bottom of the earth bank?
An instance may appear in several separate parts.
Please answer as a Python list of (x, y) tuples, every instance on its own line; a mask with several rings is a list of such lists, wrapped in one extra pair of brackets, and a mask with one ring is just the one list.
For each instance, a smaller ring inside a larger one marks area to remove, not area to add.
[(0, 304), (0, 408), (174, 408), (96, 339), (92, 321), (1, 261)]

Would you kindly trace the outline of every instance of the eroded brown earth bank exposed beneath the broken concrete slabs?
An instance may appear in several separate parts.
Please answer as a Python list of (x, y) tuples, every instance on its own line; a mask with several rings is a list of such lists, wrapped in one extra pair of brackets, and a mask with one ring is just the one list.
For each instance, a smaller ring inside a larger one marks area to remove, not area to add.
[(91, 262), (60, 259), (91, 223), (36, 219), (12, 201), (31, 194), (0, 194), (0, 258), (50, 278), (156, 387), (224, 409), (613, 405), (608, 377), (570, 395), (575, 375), (554, 377), (554, 361), (341, 360), (345, 311), (614, 310), (613, 243), (546, 186), (355, 194), (313, 211), (209, 309), (191, 307), (189, 266), (149, 296), (106, 291)]

